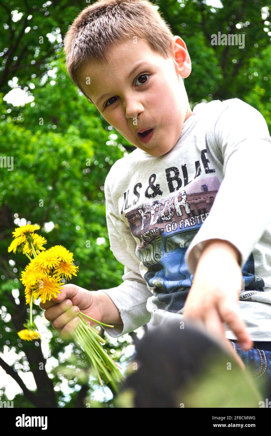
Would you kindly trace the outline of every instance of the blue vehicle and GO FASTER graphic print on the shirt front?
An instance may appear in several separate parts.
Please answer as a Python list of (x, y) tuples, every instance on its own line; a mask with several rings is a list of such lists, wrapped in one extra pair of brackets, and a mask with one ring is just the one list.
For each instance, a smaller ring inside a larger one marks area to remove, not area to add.
[[(149, 186), (144, 192), (145, 198), (153, 199), (164, 194), (155, 179), (156, 175), (152, 174)], [(139, 203), (138, 187), (142, 185), (137, 184), (134, 189), (129, 190), (135, 194), (134, 201), (129, 191), (124, 193), (124, 210), (125, 204)], [(219, 187), (217, 176), (208, 175), (186, 184), (185, 189), (174, 189), (172, 185), (171, 194), (168, 196), (145, 201), (125, 213), (130, 231), (137, 240), (136, 254), (147, 268), (144, 279), (149, 286), (155, 286), (154, 295), (161, 303), (159, 308), (163, 310), (178, 313), (183, 310), (187, 293), (193, 283), (193, 275), (184, 260), (185, 253), (209, 215)], [(225, 213), (226, 208), (227, 206)], [(254, 259), (251, 253), (243, 268), (243, 291), (253, 290), (258, 293), (263, 290), (263, 286), (263, 279), (254, 276)], [(247, 294), (242, 293), (243, 300), (253, 298), (251, 293)]]

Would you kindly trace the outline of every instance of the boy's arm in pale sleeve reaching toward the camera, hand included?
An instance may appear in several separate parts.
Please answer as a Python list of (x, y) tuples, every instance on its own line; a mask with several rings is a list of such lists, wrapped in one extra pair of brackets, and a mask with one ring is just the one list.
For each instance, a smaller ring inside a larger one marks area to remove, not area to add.
[[(213, 103), (219, 116), (207, 116), (206, 140), (224, 178), (185, 255), (194, 281), (184, 313), (204, 321), (221, 338), (225, 322), (241, 347), (249, 349), (252, 342), (238, 300), (242, 269), (271, 221), (271, 202), (266, 200), (271, 187), (271, 137), (264, 117), (254, 107), (240, 99)], [(251, 225), (247, 205), (254, 198), (260, 206), (253, 210), (255, 225)], [(261, 329), (259, 315), (257, 322)]]

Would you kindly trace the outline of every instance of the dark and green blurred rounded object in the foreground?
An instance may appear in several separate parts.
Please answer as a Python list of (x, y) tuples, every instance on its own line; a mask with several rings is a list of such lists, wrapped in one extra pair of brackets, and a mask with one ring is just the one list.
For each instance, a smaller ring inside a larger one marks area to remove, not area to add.
[(259, 407), (261, 396), (248, 369), (211, 336), (194, 324), (172, 323), (136, 344), (117, 407)]

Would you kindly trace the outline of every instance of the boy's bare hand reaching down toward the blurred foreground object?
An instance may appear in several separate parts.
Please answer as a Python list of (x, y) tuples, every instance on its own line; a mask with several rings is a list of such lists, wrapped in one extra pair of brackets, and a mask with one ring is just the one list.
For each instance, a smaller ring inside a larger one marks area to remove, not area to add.
[(238, 252), (227, 241), (208, 242), (197, 264), (194, 280), (184, 305), (184, 320), (201, 322), (204, 327), (233, 350), (226, 338), (225, 327), (233, 331), (244, 350), (253, 346), (240, 315), (239, 292), (242, 288), (242, 270)]

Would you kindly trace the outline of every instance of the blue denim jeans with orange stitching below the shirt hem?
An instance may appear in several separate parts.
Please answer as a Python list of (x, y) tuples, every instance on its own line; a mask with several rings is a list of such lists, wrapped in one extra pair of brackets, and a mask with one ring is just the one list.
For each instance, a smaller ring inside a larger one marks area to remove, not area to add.
[(254, 341), (253, 348), (248, 351), (244, 351), (237, 341), (231, 340), (231, 344), (251, 371), (254, 384), (263, 397), (261, 406), (271, 407), (271, 342)]

